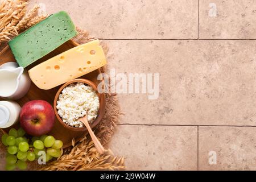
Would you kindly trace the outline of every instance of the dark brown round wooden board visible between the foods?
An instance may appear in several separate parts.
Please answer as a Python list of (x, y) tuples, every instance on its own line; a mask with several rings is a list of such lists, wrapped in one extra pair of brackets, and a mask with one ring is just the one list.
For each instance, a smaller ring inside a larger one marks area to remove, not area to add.
[[(71, 49), (78, 45), (79, 44), (77, 44), (76, 42), (69, 40), (68, 42), (64, 43), (62, 46), (58, 47), (57, 49), (55, 49), (48, 55), (44, 56), (42, 59), (36, 61), (36, 63), (30, 65), (26, 69), (29, 70), (30, 68), (34, 67), (35, 65), (40, 64), (43, 61), (46, 61), (46, 60), (50, 59), (51, 57), (59, 55), (61, 52), (67, 51), (68, 49)], [(15, 58), (14, 58), (13, 53), (11, 53), (9, 46), (7, 46), (5, 49), (3, 49), (2, 52), (0, 52), (0, 65), (7, 63), (7, 62), (11, 62), (11, 61), (15, 61)], [(101, 73), (100, 69), (97, 69), (96, 71), (88, 73), (85, 76), (82, 76), (80, 78), (85, 78), (85, 79), (91, 80), (98, 85), (100, 83), (100, 81), (97, 80), (97, 77), (100, 73)], [(26, 94), (26, 96), (24, 96), (20, 100), (17, 100), (16, 102), (18, 102), (20, 106), (23, 106), (28, 101), (45, 100), (53, 106), (55, 94), (57, 93), (57, 91), (59, 90), (60, 87), (61, 87), (61, 85), (57, 86), (56, 88), (53, 88), (51, 90), (42, 90), (42, 89), (39, 89), (33, 82), (31, 82), (31, 88), (30, 88), (29, 92)], [(105, 105), (105, 95), (104, 94), (102, 94), (102, 97), (100, 99), (104, 100), (104, 105)], [(1, 98), (0, 98), (0, 100), (1, 100)], [(98, 117), (97, 117), (98, 122), (100, 122), (100, 119), (103, 117), (104, 113), (105, 113), (105, 110), (100, 111), (100, 113), (98, 114)], [(95, 127), (97, 125), (97, 123), (93, 123), (92, 127)], [(18, 125), (13, 126), (13, 127), (18, 127)], [(8, 132), (9, 130), (10, 129), (5, 129), (4, 131)], [(72, 131), (72, 130), (65, 129), (65, 127), (61, 126), (61, 124), (59, 123), (59, 121), (57, 121), (57, 118), (55, 117), (55, 125), (54, 125), (52, 131), (50, 133), (48, 133), (48, 135), (52, 135), (56, 139), (62, 140), (64, 143), (63, 148), (67, 148), (69, 146), (72, 146), (72, 139), (74, 139), (75, 142), (77, 142), (82, 137), (84, 137), (87, 133), (88, 133), (87, 130), (86, 131)]]

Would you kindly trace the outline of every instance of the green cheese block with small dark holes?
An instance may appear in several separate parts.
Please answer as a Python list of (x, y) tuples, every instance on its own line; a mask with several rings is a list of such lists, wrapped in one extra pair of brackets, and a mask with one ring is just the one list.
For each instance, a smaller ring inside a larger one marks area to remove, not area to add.
[(9, 46), (19, 66), (26, 68), (76, 35), (71, 18), (60, 11), (10, 40)]

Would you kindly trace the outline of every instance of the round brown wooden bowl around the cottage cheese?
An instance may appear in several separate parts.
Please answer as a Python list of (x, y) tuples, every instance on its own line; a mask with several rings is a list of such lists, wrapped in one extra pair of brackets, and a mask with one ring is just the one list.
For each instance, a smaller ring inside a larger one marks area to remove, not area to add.
[(98, 98), (100, 100), (100, 108), (98, 109), (97, 117), (90, 123), (90, 127), (93, 129), (93, 127), (95, 127), (101, 121), (101, 119), (105, 113), (105, 95), (98, 93), (96, 84), (94, 84), (94, 82), (92, 82), (90, 80), (75, 79), (75, 80), (71, 80), (71, 81), (68, 81), (67, 83), (65, 83), (63, 86), (61, 86), (61, 88), (56, 93), (56, 96), (55, 96), (54, 102), (53, 102), (53, 107), (54, 107), (55, 115), (57, 117), (57, 121), (59, 121), (63, 127), (65, 127), (68, 130), (72, 130), (72, 131), (86, 131), (87, 132), (88, 130), (86, 129), (85, 126), (84, 127), (72, 127), (72, 126), (67, 125), (66, 123), (64, 123), (62, 121), (60, 115), (57, 113), (57, 101), (59, 100), (61, 91), (68, 85), (76, 83), (76, 82), (82, 82), (86, 85), (92, 86), (92, 88), (96, 91)]

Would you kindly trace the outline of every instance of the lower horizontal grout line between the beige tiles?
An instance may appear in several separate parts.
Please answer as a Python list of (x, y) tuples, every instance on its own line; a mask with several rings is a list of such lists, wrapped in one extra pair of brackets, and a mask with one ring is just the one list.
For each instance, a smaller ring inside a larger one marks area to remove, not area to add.
[(130, 123), (121, 123), (117, 124), (118, 126), (198, 126), (198, 127), (256, 127), (250, 125), (156, 125), (156, 124), (130, 124)]

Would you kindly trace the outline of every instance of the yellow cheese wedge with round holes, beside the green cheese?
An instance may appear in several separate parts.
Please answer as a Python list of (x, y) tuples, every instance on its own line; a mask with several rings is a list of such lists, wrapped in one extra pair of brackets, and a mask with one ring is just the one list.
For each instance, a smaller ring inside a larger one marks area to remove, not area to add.
[(106, 64), (99, 40), (82, 44), (52, 57), (28, 71), (40, 89), (48, 90), (64, 84)]

